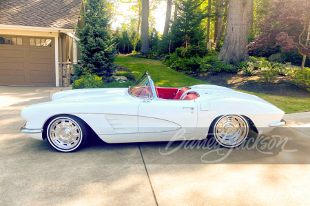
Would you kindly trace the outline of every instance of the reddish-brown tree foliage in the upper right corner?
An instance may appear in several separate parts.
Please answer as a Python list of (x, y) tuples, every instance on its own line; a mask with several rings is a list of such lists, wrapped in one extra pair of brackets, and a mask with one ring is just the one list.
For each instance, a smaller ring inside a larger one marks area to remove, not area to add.
[(309, 0), (273, 1), (257, 27), (261, 33), (248, 45), (249, 54), (269, 56), (279, 49), (310, 56), (307, 30), (310, 21)]

